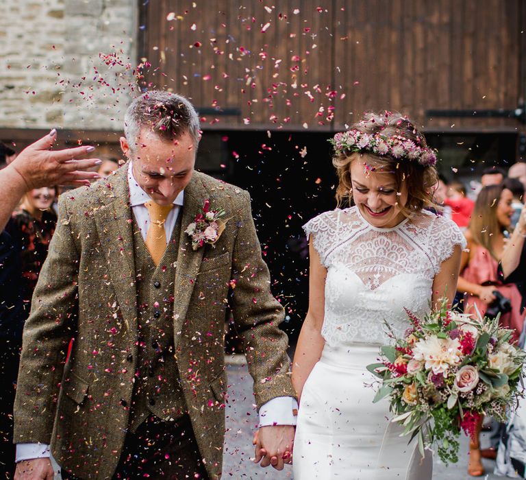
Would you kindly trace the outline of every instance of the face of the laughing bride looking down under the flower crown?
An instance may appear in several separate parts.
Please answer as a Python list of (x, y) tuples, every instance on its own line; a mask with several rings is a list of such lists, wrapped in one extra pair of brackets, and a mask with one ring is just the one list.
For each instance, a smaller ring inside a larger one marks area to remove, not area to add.
[(408, 201), (405, 185), (397, 191), (394, 173), (382, 170), (380, 165), (362, 158), (351, 162), (353, 199), (360, 212), (376, 228), (392, 228), (403, 219), (401, 207)]

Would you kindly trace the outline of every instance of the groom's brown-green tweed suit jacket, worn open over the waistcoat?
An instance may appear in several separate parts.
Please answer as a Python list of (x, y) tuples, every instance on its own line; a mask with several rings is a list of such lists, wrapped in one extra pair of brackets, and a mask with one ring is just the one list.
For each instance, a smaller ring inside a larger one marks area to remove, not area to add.
[[(225, 210), (227, 224), (214, 246), (194, 251), (184, 230), (205, 200)], [(174, 355), (199, 450), (217, 479), (225, 310), (244, 339), (258, 409), (277, 396), (295, 396), (287, 339), (278, 328), (284, 311), (271, 295), (246, 191), (195, 172), (179, 215)], [(14, 442), (51, 444), (58, 463), (86, 479), (112, 477), (128, 428), (138, 356), (132, 224), (126, 166), (61, 195), (23, 333)]]

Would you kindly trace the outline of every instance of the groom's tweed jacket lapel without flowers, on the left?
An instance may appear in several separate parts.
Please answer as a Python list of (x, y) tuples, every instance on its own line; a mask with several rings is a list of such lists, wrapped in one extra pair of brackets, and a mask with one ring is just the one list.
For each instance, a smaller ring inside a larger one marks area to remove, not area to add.
[(116, 299), (127, 329), (136, 333), (136, 272), (129, 206), (128, 163), (118, 169), (99, 190), (101, 208), (95, 212), (95, 224), (101, 240), (106, 266), (114, 285)]

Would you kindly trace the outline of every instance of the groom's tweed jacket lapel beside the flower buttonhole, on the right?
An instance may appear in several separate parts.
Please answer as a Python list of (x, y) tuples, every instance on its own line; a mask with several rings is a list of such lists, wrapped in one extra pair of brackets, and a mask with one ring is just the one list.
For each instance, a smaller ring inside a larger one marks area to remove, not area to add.
[(192, 250), (192, 242), (184, 230), (194, 221), (195, 215), (203, 208), (205, 200), (209, 196), (201, 180), (199, 180), (199, 174), (195, 172), (192, 180), (184, 189), (184, 205), (181, 212), (181, 236), (179, 237), (179, 253), (177, 255), (177, 271), (173, 295), (173, 327), (176, 345), (178, 334), (181, 331), (181, 324), (188, 311), (197, 272), (199, 272), (205, 250), (204, 245), (198, 250)]

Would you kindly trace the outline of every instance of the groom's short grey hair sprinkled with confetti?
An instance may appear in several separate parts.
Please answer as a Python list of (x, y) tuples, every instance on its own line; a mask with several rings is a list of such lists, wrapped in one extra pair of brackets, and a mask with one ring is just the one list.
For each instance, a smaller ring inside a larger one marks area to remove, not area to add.
[(188, 132), (196, 147), (201, 139), (199, 116), (194, 106), (176, 93), (152, 90), (132, 101), (124, 116), (124, 134), (130, 149), (136, 148), (143, 128), (166, 141)]

